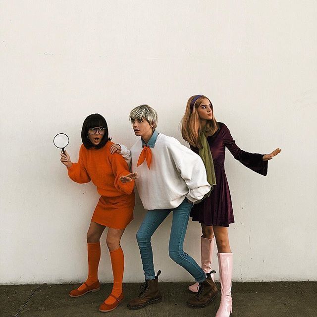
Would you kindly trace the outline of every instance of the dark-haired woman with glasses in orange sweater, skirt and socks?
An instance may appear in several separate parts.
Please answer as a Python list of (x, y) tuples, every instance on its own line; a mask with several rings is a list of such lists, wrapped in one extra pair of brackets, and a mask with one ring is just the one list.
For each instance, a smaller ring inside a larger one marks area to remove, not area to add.
[[(68, 153), (61, 152), (60, 161), (66, 165), (69, 177), (77, 183), (91, 180), (101, 195), (87, 232), (88, 278), (77, 289), (69, 293), (79, 297), (100, 290), (98, 265), (100, 261), (100, 237), (108, 227), (106, 244), (110, 252), (113, 288), (100, 306), (102, 312), (115, 309), (123, 300), (122, 279), (124, 256), (120, 247), (125, 227), (133, 219), (135, 197), (133, 192), (136, 173), (130, 173), (120, 154), (110, 154), (113, 144), (108, 137), (105, 118), (100, 114), (89, 115), (82, 127), (78, 163), (72, 163)], [(125, 177), (122, 177), (125, 176)]]

